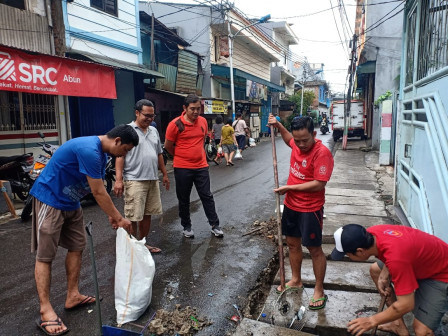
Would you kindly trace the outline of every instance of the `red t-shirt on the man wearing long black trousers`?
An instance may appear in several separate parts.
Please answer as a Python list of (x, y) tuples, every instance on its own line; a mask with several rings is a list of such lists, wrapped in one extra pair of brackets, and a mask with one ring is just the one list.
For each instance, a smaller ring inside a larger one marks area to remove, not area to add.
[[(208, 167), (207, 158), (205, 157), (204, 139), (207, 135), (207, 120), (199, 116), (193, 124), (185, 121), (185, 111), (180, 117), (174, 118), (168, 124), (165, 138), (174, 142), (174, 168), (198, 169)], [(180, 119), (185, 128), (179, 132), (179, 128), (175, 124)]]

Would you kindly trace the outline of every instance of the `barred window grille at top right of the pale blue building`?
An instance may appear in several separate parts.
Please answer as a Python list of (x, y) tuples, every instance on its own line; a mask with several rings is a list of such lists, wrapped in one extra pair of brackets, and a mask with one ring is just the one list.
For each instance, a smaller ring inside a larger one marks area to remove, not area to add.
[(448, 65), (448, 1), (424, 0), (421, 13), (417, 80)]

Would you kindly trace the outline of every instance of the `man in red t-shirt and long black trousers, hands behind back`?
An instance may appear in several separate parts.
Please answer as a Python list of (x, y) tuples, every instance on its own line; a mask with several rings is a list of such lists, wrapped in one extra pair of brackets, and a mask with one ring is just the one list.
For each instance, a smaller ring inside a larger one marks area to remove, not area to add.
[(190, 194), (194, 184), (211, 226), (211, 232), (216, 237), (223, 237), (215, 201), (210, 191), (210, 175), (204, 150), (208, 126), (207, 120), (199, 115), (200, 98), (188, 95), (183, 108), (182, 115), (168, 124), (165, 134), (165, 149), (174, 156), (174, 178), (180, 223), (184, 227), (183, 234), (187, 238), (194, 238), (190, 219)]

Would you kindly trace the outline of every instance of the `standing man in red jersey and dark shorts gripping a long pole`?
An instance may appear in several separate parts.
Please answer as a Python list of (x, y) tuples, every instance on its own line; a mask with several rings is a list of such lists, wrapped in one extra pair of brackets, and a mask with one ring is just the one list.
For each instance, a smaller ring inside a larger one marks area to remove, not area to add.
[[(276, 127), (283, 141), (292, 149), (288, 182), (275, 189), (286, 194), (282, 215), (282, 232), (289, 248), (292, 277), (285, 290), (303, 288), (301, 278), (302, 245), (310, 251), (316, 284), (309, 309), (325, 307), (324, 278), (327, 261), (322, 251), (322, 219), (325, 203), (325, 185), (333, 172), (331, 152), (316, 139), (313, 120), (296, 117), (291, 122), (291, 133), (273, 116), (269, 124)], [(282, 288), (277, 288), (281, 292)]]

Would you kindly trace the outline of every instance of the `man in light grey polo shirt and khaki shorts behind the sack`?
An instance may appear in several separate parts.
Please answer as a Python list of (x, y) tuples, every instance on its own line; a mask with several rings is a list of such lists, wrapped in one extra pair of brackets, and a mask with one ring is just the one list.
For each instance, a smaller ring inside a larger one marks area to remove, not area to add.
[[(159, 174), (166, 190), (170, 180), (163, 161), (163, 149), (159, 132), (151, 122), (155, 118), (154, 105), (147, 99), (135, 104), (135, 121), (129, 125), (137, 132), (139, 146), (133, 148), (126, 157), (115, 162), (116, 181), (114, 193), (118, 197), (124, 191), (124, 214), (132, 221), (139, 240), (147, 238), (151, 228), (151, 216), (162, 214)], [(137, 230), (138, 224), (138, 230)], [(146, 245), (151, 253), (161, 252), (160, 248)]]

